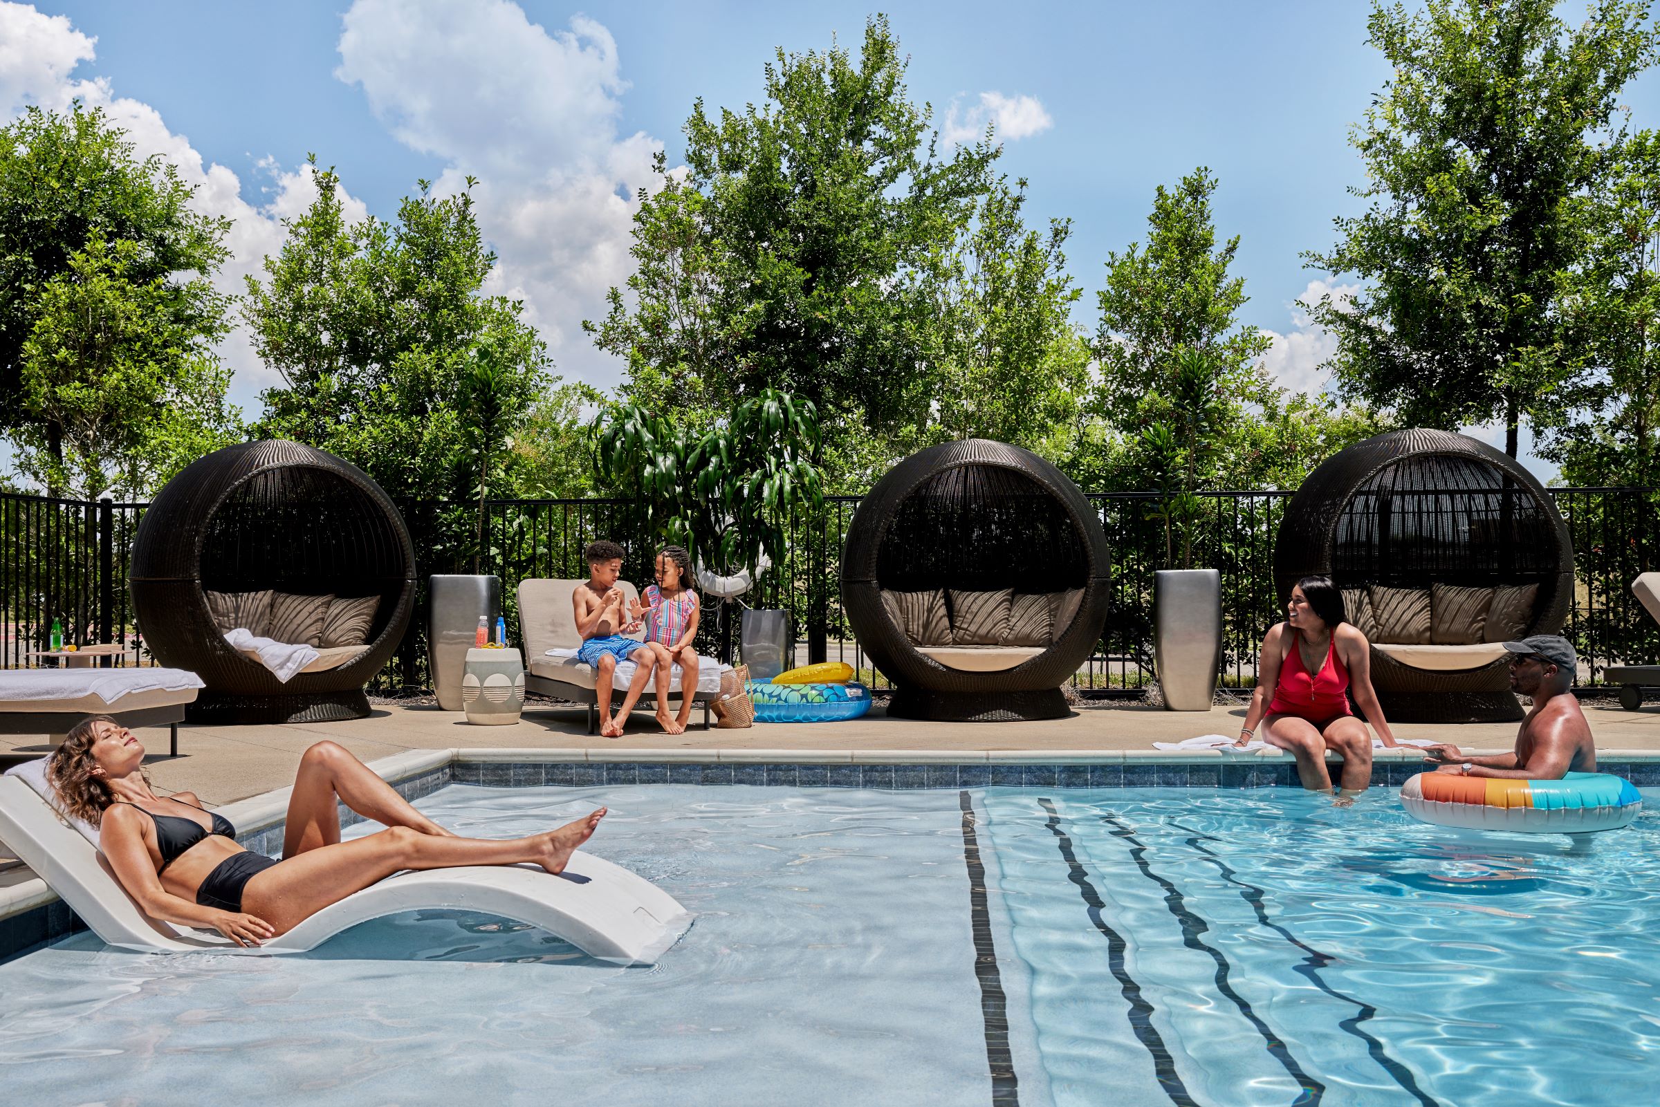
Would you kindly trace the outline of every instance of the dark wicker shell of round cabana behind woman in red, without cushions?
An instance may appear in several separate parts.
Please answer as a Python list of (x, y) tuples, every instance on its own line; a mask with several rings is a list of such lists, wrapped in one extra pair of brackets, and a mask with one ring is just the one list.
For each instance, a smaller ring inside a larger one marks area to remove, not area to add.
[[(1315, 574), (1341, 589), (1532, 586), (1524, 634), (1559, 634), (1572, 599), (1574, 546), (1555, 500), (1514, 458), (1464, 435), (1396, 430), (1308, 475), (1280, 521), (1273, 571), (1282, 601), (1298, 578)], [(1371, 654), (1373, 687), (1389, 720), (1522, 717), (1502, 657), (1462, 669), (1433, 659), (1441, 667), (1429, 669), (1403, 664), (1401, 652), (1374, 646)]]

